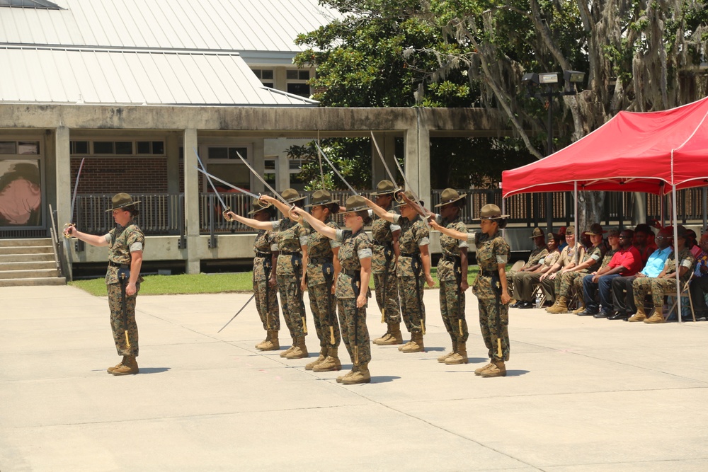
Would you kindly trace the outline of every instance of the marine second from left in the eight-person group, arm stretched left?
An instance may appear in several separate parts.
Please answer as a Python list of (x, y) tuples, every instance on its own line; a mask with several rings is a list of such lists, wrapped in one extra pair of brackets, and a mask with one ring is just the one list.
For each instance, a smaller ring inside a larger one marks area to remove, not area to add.
[[(287, 188), (280, 194), (283, 200), (295, 207), (302, 207), (304, 199), (294, 188)], [(292, 345), (280, 353), (285, 359), (302, 359), (308, 357), (305, 335), (307, 323), (305, 321), (305, 305), (302, 301), (302, 259), (307, 257), (307, 236), (309, 231), (297, 221), (290, 219), (290, 207), (280, 200), (261, 196), (261, 205), (275, 205), (285, 218), (276, 221), (257, 221), (244, 218), (234, 212), (227, 216), (240, 221), (253, 229), (278, 231), (278, 260), (275, 265), (275, 277), (278, 280), (280, 292), (280, 307), (285, 318), (285, 326), (290, 331)]]

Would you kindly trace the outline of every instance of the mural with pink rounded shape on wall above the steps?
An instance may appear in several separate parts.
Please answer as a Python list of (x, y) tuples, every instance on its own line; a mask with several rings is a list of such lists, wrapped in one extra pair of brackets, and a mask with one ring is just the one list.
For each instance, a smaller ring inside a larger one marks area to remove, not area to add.
[(0, 160), (0, 226), (42, 224), (39, 159)]

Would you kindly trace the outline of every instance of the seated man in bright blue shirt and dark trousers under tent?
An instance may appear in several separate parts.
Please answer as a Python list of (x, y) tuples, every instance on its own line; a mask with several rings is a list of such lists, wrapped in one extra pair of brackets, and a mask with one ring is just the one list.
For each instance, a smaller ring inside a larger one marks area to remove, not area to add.
[[(663, 270), (666, 258), (671, 253), (671, 231), (662, 229), (656, 236), (656, 251), (649, 255), (646, 260), (644, 269), (637, 272), (632, 277), (616, 277), (612, 280), (612, 305), (615, 309), (615, 314), (609, 316), (610, 320), (626, 320), (636, 313), (634, 306), (634, 291), (632, 290), (632, 282), (637, 277), (657, 277)], [(625, 292), (626, 291), (626, 292)]]

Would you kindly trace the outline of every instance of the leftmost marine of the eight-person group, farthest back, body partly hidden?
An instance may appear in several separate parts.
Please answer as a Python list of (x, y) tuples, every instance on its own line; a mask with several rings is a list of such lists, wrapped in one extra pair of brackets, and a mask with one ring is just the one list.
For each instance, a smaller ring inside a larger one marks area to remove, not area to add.
[[(261, 200), (254, 198), (248, 215), (255, 221), (269, 222), (275, 217), (275, 207), (261, 205)], [(280, 311), (278, 281), (273, 267), (278, 260), (278, 234), (268, 229), (259, 229), (256, 241), (253, 241), (253, 252), (256, 253), (253, 258), (253, 294), (256, 295), (256, 310), (265, 330), (265, 340), (258, 343), (256, 349), (277, 351), (280, 349)]]

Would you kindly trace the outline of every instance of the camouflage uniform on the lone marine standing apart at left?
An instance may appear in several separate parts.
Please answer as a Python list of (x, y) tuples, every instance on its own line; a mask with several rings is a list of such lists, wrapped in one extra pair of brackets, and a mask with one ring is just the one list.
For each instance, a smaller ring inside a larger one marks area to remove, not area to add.
[[(108, 307), (110, 309), (110, 328), (113, 330), (113, 341), (118, 355), (136, 356), (138, 355), (138, 334), (137, 323), (135, 323), (135, 299), (140, 291), (142, 276), (138, 277), (135, 284), (136, 292), (130, 296), (125, 296), (125, 311), (127, 312), (127, 331), (130, 340), (130, 347), (125, 343), (125, 323), (123, 322), (122, 290), (120, 280), (118, 280), (118, 270), (130, 270), (130, 253), (132, 251), (143, 251), (145, 247), (145, 236), (137, 224), (130, 223), (127, 226), (116, 226), (105, 235), (108, 242), (108, 270), (105, 272), (105, 284), (108, 287)], [(127, 286), (127, 279), (125, 284)]]

